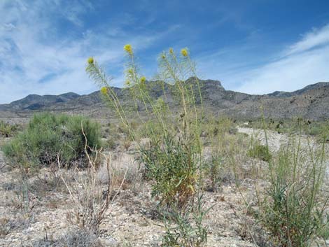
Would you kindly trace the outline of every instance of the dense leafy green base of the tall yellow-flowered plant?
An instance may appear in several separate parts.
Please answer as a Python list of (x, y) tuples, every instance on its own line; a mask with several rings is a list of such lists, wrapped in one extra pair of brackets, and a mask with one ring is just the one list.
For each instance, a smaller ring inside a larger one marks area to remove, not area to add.
[(162, 203), (181, 207), (194, 195), (197, 164), (180, 141), (165, 139), (151, 150), (141, 150), (141, 162), (153, 181), (152, 195)]

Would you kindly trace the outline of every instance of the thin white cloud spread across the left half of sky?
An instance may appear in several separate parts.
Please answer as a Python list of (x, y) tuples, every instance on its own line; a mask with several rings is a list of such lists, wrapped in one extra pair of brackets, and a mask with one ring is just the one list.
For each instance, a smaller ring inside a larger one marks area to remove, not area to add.
[[(169, 31), (134, 38), (120, 23), (112, 23), (103, 32), (98, 32), (102, 27), (83, 29), (82, 16), (92, 9), (85, 0), (0, 2), (4, 23), (0, 24), (0, 104), (27, 94), (85, 94), (97, 90), (85, 73), (87, 57), (94, 56), (100, 64), (121, 72), (125, 43), (147, 48), (176, 29), (174, 26)], [(80, 38), (62, 34), (58, 20), (80, 27)], [(119, 74), (114, 76), (122, 79)], [(118, 80), (113, 83), (119, 84)]]

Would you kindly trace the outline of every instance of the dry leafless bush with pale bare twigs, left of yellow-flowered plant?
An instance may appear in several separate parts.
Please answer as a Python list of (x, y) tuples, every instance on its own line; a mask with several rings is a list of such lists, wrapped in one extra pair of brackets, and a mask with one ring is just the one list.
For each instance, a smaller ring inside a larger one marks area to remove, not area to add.
[[(120, 192), (125, 181), (125, 175), (122, 181), (118, 181), (119, 178), (116, 176), (113, 167), (111, 167), (111, 157), (104, 155), (109, 182), (104, 184), (97, 183), (97, 174), (99, 174), (99, 166), (97, 164), (99, 155), (102, 155), (102, 150), (94, 150), (94, 154), (89, 155), (86, 136), (85, 140), (85, 154), (88, 160), (86, 169), (84, 171), (80, 171), (78, 167), (74, 169), (73, 183), (67, 183), (64, 176), (61, 176), (61, 178), (69, 191), (72, 202), (69, 221), (81, 230), (88, 230), (93, 234), (98, 234), (99, 225), (104, 219), (104, 213), (109, 209), (109, 206)], [(57, 162), (58, 166), (61, 167), (59, 159)], [(120, 184), (120, 186), (115, 188), (117, 184)]]

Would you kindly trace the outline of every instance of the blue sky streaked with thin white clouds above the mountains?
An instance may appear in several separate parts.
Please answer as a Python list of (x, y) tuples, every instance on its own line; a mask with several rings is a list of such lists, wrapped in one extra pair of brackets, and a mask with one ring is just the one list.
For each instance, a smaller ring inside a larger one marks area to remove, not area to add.
[(0, 104), (27, 94), (87, 94), (93, 56), (123, 85), (123, 45), (156, 73), (188, 47), (201, 78), (263, 94), (329, 81), (329, 1), (0, 0)]

